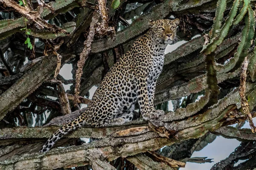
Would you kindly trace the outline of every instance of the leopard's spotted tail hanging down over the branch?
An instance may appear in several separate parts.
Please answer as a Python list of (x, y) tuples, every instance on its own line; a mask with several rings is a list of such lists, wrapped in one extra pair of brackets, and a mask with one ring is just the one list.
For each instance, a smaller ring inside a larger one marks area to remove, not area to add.
[(40, 152), (47, 152), (49, 149), (53, 147), (53, 145), (61, 139), (62, 136), (66, 135), (70, 131), (76, 130), (79, 127), (82, 127), (86, 122), (84, 122), (84, 114), (81, 114), (78, 118), (73, 121), (67, 123), (66, 125), (59, 128), (53, 135), (45, 142), (43, 148)]

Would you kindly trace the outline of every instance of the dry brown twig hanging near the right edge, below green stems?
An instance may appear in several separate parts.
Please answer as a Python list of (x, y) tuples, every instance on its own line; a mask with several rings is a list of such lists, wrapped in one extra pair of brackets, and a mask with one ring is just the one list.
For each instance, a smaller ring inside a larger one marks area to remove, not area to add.
[(245, 97), (247, 67), (248, 67), (248, 60), (247, 60), (247, 57), (245, 57), (243, 65), (242, 65), (241, 76), (240, 76), (240, 86), (239, 86), (239, 95), (241, 98), (241, 112), (247, 117), (247, 120), (250, 124), (251, 130), (253, 133), (255, 133), (256, 127), (253, 124), (253, 119), (252, 119), (252, 115), (250, 113), (249, 104)]

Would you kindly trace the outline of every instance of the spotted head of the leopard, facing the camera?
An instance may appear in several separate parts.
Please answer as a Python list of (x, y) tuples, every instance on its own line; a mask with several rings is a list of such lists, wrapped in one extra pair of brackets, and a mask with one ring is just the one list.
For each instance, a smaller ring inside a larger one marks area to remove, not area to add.
[(177, 40), (176, 32), (180, 20), (149, 21), (154, 40), (159, 43), (172, 44)]

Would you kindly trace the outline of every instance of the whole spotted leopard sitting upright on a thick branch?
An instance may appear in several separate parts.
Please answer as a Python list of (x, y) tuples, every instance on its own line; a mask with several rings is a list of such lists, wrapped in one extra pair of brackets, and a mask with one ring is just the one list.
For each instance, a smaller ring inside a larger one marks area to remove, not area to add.
[(163, 115), (164, 111), (154, 108), (154, 93), (164, 51), (177, 41), (179, 23), (177, 18), (149, 20), (149, 30), (111, 67), (84, 113), (59, 128), (40, 152), (47, 152), (62, 136), (84, 125), (106, 127), (131, 121), (136, 104), (146, 121)]

